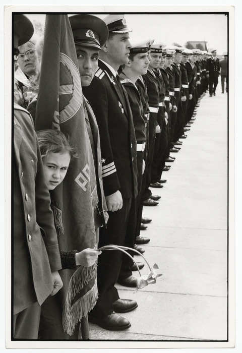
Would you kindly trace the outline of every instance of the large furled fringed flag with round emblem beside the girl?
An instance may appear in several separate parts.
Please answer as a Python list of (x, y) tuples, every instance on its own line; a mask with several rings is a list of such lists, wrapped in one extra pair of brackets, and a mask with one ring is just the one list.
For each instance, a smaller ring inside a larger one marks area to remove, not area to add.
[[(64, 182), (51, 191), (59, 249), (96, 246), (94, 209), (98, 203), (91, 144), (83, 109), (81, 79), (67, 15), (46, 15), (35, 129), (58, 129), (76, 148)], [(63, 327), (72, 334), (77, 322), (94, 307), (98, 292), (97, 265), (60, 272)]]

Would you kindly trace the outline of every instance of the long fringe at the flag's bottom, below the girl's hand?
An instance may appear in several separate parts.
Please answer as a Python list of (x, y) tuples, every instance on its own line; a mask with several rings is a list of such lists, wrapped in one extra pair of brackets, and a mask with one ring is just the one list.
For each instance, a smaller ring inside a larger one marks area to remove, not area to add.
[(63, 308), (62, 324), (63, 329), (69, 335), (72, 335), (75, 326), (80, 320), (86, 316), (95, 306), (98, 298), (97, 279), (93, 287), (79, 298), (73, 305), (71, 305), (75, 296), (79, 293), (93, 277), (96, 277), (97, 264), (95, 263), (90, 267), (80, 266), (77, 271), (72, 275), (66, 302)]

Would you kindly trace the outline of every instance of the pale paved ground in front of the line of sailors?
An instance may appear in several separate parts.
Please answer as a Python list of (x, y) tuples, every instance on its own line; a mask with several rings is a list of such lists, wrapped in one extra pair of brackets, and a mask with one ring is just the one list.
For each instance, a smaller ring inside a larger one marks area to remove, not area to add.
[(138, 302), (124, 315), (132, 326), (115, 332), (90, 324), (91, 340), (227, 339), (227, 94), (220, 92), (219, 84), (216, 97), (201, 100), (188, 138), (163, 172), (167, 183), (152, 189), (159, 205), (144, 207), (152, 218), (141, 233), (151, 239), (144, 255), (163, 276), (136, 293), (117, 284), (120, 298)]

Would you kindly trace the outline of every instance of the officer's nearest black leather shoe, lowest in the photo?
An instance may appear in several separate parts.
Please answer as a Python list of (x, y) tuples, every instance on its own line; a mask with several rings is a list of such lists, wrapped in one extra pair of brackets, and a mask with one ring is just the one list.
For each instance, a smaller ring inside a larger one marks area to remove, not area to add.
[(96, 324), (105, 330), (111, 330), (111, 331), (122, 331), (126, 330), (131, 326), (131, 323), (129, 320), (126, 318), (123, 318), (122, 316), (116, 314), (116, 313), (111, 313), (106, 316), (102, 317), (96, 317), (93, 315), (88, 314), (88, 321), (91, 322), (92, 324)]

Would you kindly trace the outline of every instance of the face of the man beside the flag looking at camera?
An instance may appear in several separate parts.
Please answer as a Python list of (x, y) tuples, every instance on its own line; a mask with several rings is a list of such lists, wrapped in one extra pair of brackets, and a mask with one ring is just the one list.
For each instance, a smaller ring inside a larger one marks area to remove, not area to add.
[(92, 82), (98, 66), (99, 49), (75, 44), (81, 84), (87, 87)]

